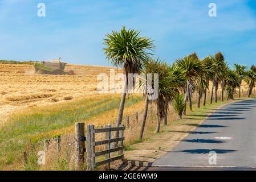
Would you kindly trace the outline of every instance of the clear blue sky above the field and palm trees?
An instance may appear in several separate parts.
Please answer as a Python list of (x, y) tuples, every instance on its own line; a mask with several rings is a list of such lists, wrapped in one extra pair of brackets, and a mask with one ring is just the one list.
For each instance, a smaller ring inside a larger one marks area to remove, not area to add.
[[(46, 17), (37, 5), (46, 5)], [(217, 17), (208, 16), (216, 3)], [(196, 51), (222, 51), (233, 63), (256, 64), (254, 0), (0, 0), (0, 60), (109, 65), (103, 38), (125, 25), (155, 40), (155, 55), (172, 63)]]

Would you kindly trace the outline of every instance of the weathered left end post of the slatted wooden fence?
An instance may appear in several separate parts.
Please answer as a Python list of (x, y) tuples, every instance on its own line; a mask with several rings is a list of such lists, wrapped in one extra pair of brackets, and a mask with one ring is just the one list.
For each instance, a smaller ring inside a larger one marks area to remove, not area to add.
[(87, 125), (87, 170), (95, 170), (95, 130), (94, 125)]

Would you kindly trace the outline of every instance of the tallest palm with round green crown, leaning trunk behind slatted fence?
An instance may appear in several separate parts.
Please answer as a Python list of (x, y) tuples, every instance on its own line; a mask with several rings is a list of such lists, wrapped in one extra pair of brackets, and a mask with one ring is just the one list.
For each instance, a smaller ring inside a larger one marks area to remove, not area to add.
[[(126, 93), (129, 92), (126, 84), (128, 74), (141, 71), (155, 46), (151, 39), (140, 36), (139, 31), (127, 30), (125, 27), (122, 27), (119, 32), (112, 31), (112, 34), (107, 34), (106, 37), (104, 39), (106, 58), (111, 61), (112, 65), (123, 67), (124, 72), (125, 85), (116, 122), (116, 126), (119, 126), (123, 118)], [(116, 132), (115, 137), (118, 137), (118, 135), (119, 132)]]

